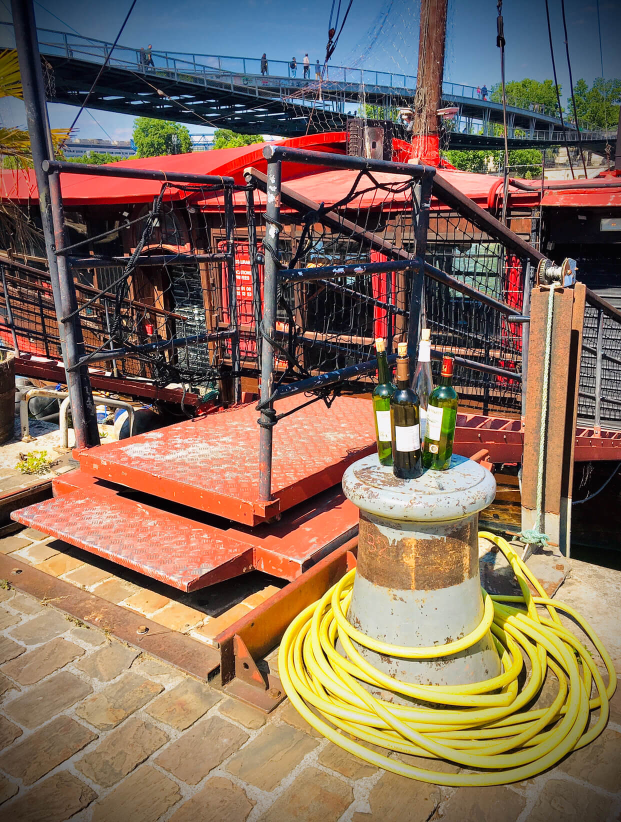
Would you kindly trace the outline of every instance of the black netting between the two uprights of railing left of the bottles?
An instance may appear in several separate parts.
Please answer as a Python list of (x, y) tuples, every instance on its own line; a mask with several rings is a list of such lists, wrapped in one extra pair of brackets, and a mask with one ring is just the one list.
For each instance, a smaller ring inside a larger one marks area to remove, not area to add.
[[(386, 262), (392, 252), (414, 247), (416, 180), (368, 171), (337, 174), (343, 196), (335, 204), (281, 211), (283, 276), (287, 269), (337, 267), (320, 279), (279, 285), (274, 342), (281, 382), (373, 359), (377, 337), (387, 339), (392, 351), (406, 336), (411, 273), (339, 275), (338, 266)], [(334, 225), (335, 215), (341, 224)], [(318, 393), (329, 398), (372, 388), (372, 379), (363, 376)]]

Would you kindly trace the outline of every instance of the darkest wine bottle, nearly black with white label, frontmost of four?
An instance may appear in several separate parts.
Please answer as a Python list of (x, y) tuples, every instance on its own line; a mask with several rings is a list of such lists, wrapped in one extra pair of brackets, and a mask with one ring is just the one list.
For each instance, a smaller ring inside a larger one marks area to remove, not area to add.
[(396, 358), (396, 391), (391, 397), (392, 471), (400, 479), (423, 473), (420, 459), (419, 398), (410, 388), (407, 343), (399, 343)]

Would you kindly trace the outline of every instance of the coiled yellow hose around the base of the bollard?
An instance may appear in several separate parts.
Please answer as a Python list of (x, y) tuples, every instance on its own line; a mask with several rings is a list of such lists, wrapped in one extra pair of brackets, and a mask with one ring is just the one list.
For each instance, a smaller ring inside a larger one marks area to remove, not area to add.
[[(461, 640), (433, 648), (403, 648), (361, 634), (346, 618), (355, 570), (290, 624), (280, 644), (280, 679), (294, 707), (324, 737), (395, 774), (439, 785), (481, 786), (517, 782), (540, 774), (602, 732), (608, 721), (609, 698), (617, 685), (606, 649), (572, 607), (545, 595), (506, 540), (487, 532), (479, 536), (494, 542), (507, 557), (521, 596), (483, 592), (483, 620)], [(531, 595), (528, 582), (539, 596)], [(576, 621), (600, 654), (608, 672), (607, 686), (591, 653), (563, 626), (558, 612)], [(463, 686), (397, 681), (370, 665), (354, 645), (363, 644), (387, 656), (437, 658), (470, 648), (488, 630), (500, 654), (503, 672), (493, 679)], [(337, 640), (346, 656), (336, 649)], [(525, 660), (528, 672), (519, 686)], [(546, 675), (558, 683), (554, 701), (545, 708), (529, 709)], [(376, 690), (410, 697), (416, 703), (393, 704), (378, 699), (362, 682)], [(598, 716), (589, 727), (592, 711)], [(363, 742), (387, 752), (426, 757), (432, 760), (430, 768), (389, 758)], [(433, 760), (448, 760), (466, 771), (443, 773), (431, 767)]]

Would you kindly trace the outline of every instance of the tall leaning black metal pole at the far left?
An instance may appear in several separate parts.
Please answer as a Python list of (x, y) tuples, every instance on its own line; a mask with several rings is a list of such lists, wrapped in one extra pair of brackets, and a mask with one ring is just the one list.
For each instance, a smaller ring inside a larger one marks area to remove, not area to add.
[(58, 174), (48, 175), (43, 169), (45, 160), (53, 160), (53, 145), (49, 131), (32, 0), (12, 0), (12, 14), (32, 159), (39, 189), (45, 251), (48, 257), (54, 307), (58, 318), (58, 333), (63, 350), (67, 391), (71, 399), (73, 425), (76, 432), (76, 447), (97, 446), (100, 443), (100, 435), (88, 370), (86, 367), (75, 371), (69, 370), (80, 361), (85, 349), (80, 321), (74, 313), (77, 301), (71, 271), (68, 269), (67, 261), (63, 257), (56, 256), (56, 249), (65, 245), (63, 201), (60, 195)]

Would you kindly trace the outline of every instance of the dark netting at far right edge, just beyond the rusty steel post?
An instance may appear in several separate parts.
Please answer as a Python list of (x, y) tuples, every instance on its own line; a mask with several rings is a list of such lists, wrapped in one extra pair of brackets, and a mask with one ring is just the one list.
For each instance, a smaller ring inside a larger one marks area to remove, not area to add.
[(598, 397), (600, 425), (621, 428), (621, 321), (587, 301), (582, 327), (579, 422), (589, 426), (596, 423)]

